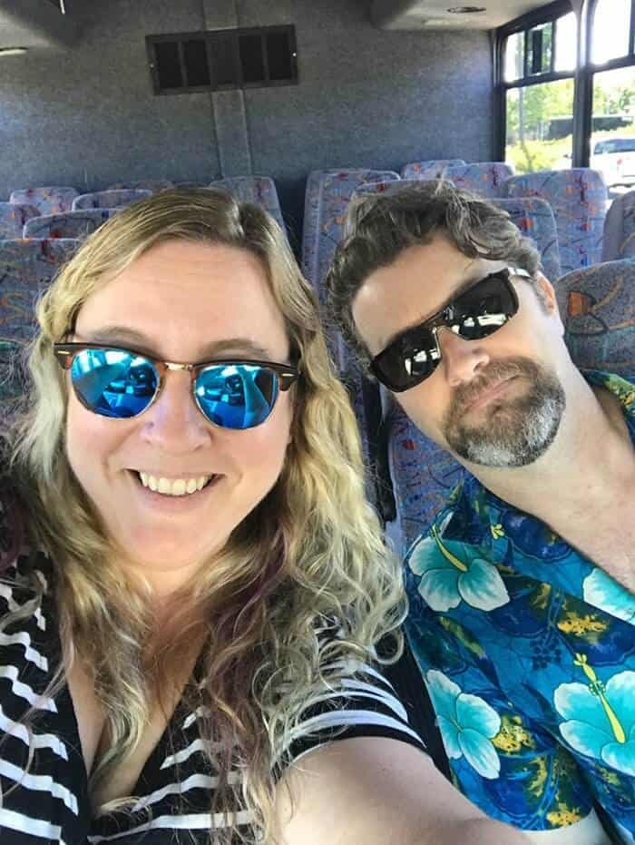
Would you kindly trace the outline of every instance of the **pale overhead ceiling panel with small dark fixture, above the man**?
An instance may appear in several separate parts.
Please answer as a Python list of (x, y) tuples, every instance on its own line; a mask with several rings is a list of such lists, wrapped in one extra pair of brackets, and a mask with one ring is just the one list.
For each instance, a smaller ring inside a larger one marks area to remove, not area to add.
[(372, 0), (379, 29), (496, 29), (548, 5), (545, 0)]

